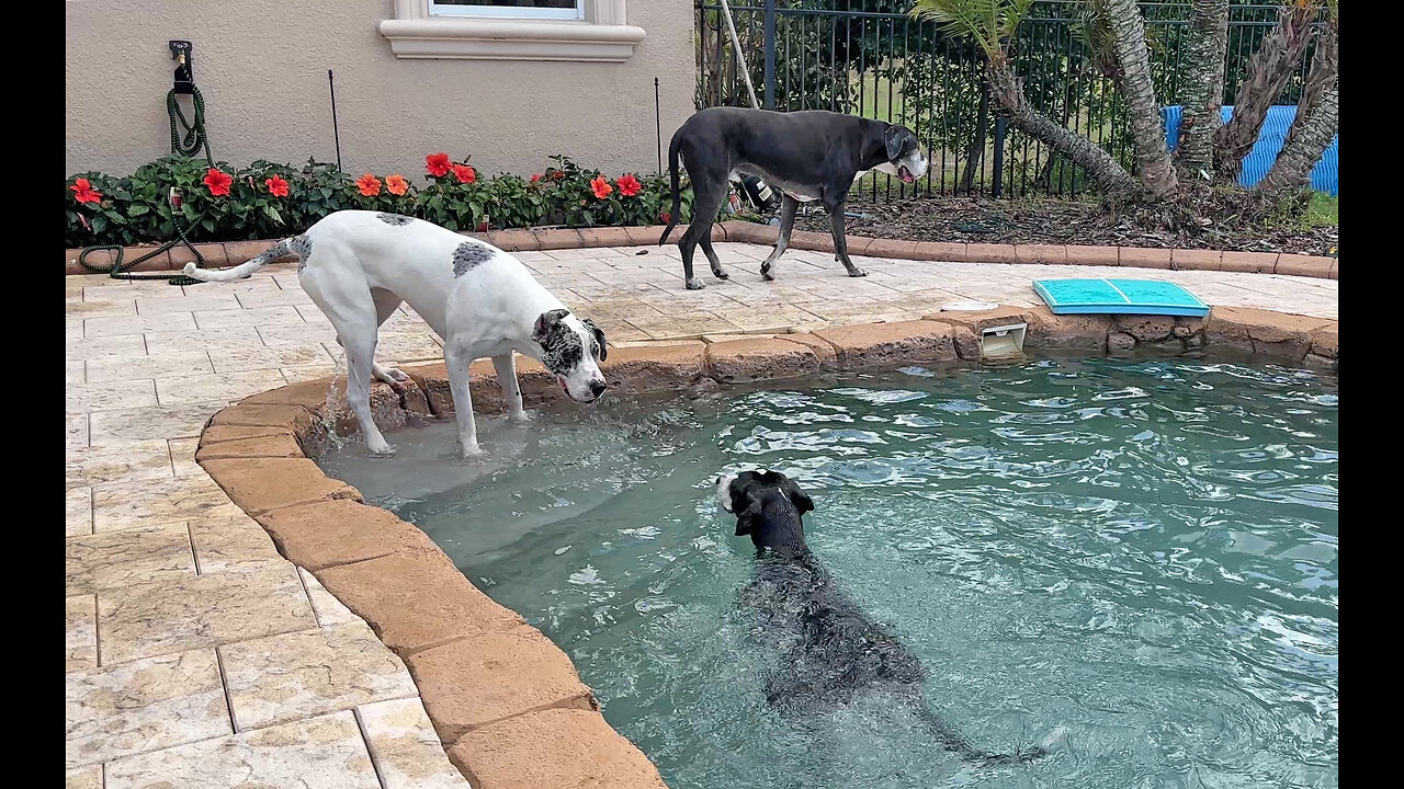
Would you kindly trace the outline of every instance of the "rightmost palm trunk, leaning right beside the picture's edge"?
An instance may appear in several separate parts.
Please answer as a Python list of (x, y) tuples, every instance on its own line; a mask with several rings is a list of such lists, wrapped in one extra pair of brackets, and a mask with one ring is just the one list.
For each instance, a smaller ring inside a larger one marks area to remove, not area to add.
[(1278, 194), (1300, 190), (1311, 180), (1311, 170), (1321, 160), (1341, 125), (1341, 39), (1335, 20), (1321, 34), (1311, 70), (1297, 102), (1297, 117), (1287, 129), (1278, 160), (1254, 191)]

